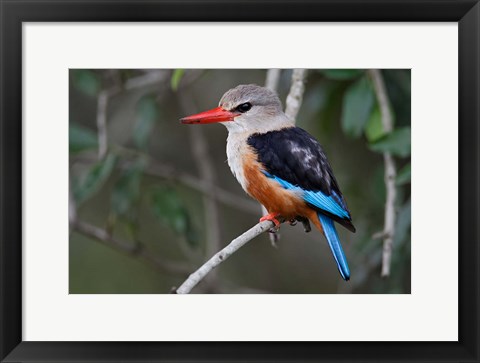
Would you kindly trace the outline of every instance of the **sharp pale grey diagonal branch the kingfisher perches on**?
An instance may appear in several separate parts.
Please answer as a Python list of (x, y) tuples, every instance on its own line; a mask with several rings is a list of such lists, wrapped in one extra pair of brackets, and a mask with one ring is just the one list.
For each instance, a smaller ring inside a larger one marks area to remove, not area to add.
[(270, 228), (273, 227), (273, 223), (270, 221), (263, 221), (248, 231), (243, 233), (241, 236), (235, 238), (232, 242), (230, 242), (226, 247), (224, 247), (221, 251), (217, 252), (212, 258), (210, 258), (207, 262), (205, 262), (197, 271), (192, 273), (185, 282), (180, 285), (177, 289), (177, 294), (188, 294), (192, 289), (198, 285), (200, 281), (202, 281), (205, 276), (208, 275), (210, 271), (220, 265), (223, 261), (237, 252), (241, 247), (247, 244), (249, 241), (257, 237), (258, 235), (268, 231)]

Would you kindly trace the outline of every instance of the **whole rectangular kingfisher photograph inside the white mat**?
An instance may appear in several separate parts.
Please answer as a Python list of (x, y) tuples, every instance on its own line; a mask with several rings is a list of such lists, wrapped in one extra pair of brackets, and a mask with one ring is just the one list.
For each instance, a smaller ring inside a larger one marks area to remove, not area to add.
[(70, 294), (410, 294), (410, 69), (70, 69)]

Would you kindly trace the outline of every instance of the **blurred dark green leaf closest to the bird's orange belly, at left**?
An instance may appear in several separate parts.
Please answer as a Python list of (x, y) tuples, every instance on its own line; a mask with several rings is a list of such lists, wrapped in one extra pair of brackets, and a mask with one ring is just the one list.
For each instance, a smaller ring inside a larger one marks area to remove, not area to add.
[(151, 206), (155, 215), (177, 234), (185, 236), (191, 246), (198, 244), (190, 216), (175, 189), (156, 188), (152, 193)]

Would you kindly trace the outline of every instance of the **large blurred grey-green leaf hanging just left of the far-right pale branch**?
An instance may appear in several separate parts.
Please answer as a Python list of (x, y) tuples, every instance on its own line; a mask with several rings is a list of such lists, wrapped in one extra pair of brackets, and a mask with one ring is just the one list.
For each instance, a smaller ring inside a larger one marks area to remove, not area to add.
[(367, 123), (374, 94), (367, 77), (362, 77), (347, 88), (342, 105), (342, 128), (345, 134), (358, 138)]

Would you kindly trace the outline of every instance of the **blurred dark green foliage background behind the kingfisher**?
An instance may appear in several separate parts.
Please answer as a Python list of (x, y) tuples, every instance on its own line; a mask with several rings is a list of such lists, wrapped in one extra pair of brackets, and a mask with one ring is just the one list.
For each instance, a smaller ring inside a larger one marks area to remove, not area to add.
[[(70, 70), (70, 293), (169, 293), (258, 222), (226, 164), (226, 129), (178, 119), (216, 107), (266, 70)], [(285, 104), (292, 70), (278, 84)], [(297, 126), (323, 145), (357, 232), (338, 226), (351, 269), (341, 279), (325, 238), (284, 224), (259, 236), (196, 293), (410, 293), (410, 70), (382, 70), (386, 134), (365, 70), (308, 70)], [(389, 277), (380, 277), (383, 152), (397, 169)]]

